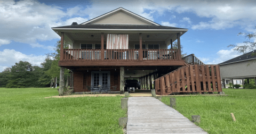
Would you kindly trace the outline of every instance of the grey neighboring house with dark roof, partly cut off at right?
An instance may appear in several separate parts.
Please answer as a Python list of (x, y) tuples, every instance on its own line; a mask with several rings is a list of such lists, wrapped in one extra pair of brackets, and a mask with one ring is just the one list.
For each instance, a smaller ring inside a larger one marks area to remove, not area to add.
[[(256, 56), (249, 53), (232, 58), (231, 60), (220, 63), (220, 73), (222, 83), (228, 85), (230, 82), (233, 84), (243, 85), (244, 79), (254, 79), (256, 81)], [(255, 82), (256, 83), (256, 82)]]

